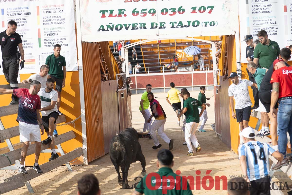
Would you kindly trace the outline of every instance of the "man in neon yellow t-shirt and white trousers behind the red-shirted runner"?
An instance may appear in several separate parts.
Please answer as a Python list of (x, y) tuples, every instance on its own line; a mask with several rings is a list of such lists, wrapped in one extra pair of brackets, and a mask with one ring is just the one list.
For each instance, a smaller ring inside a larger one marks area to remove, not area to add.
[[(143, 131), (150, 130), (151, 123), (152, 123), (152, 119), (151, 119), (150, 123), (147, 122), (147, 120), (151, 116), (151, 114), (150, 114), (150, 112), (148, 110), (150, 102), (149, 102), (149, 100), (147, 98), (147, 94), (149, 92), (151, 92), (151, 89), (152, 89), (152, 85), (151, 84), (147, 84), (146, 85), (146, 92), (144, 92), (142, 94), (141, 101), (140, 101), (140, 108), (139, 109), (140, 109), (140, 112), (142, 113), (142, 115), (143, 115), (143, 117), (145, 119)], [(150, 136), (150, 133), (146, 134), (144, 137), (146, 137), (148, 139), (152, 139), (151, 136)]]

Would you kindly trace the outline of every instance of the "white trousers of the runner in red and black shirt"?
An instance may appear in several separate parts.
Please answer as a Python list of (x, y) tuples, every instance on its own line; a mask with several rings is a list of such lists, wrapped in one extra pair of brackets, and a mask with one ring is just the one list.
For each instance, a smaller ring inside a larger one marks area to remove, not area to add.
[(155, 146), (159, 145), (159, 141), (156, 136), (156, 131), (158, 135), (167, 143), (169, 144), (170, 139), (164, 133), (164, 123), (166, 122), (166, 118), (163, 120), (154, 120), (151, 127), (150, 127), (150, 136), (155, 144)]

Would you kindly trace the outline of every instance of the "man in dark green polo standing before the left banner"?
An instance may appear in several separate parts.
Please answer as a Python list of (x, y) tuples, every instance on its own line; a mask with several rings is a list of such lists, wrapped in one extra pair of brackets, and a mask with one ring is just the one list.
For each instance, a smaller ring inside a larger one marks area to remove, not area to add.
[(54, 45), (54, 53), (49, 55), (46, 59), (46, 65), (49, 67), (48, 75), (56, 82), (56, 91), (58, 92), (57, 108), (60, 112), (61, 91), (62, 87), (65, 87), (66, 79), (66, 61), (63, 56), (60, 55), (61, 46), (59, 44)]

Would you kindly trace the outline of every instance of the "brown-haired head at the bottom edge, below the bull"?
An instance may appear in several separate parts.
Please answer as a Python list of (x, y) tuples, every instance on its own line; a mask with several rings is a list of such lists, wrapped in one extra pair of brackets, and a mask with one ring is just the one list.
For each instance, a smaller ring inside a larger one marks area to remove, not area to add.
[(78, 181), (78, 195), (100, 195), (98, 179), (93, 174), (87, 174)]

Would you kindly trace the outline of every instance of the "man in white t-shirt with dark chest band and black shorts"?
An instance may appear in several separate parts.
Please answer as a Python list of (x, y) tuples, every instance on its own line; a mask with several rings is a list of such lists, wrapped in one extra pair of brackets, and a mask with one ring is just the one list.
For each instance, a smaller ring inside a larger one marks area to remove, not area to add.
[(49, 161), (54, 160), (59, 157), (55, 150), (55, 142), (53, 139), (53, 131), (56, 120), (59, 117), (58, 108), (57, 108), (57, 100), (58, 100), (58, 92), (56, 92), (53, 87), (55, 84), (55, 80), (50, 78), (46, 82), (46, 88), (42, 88), (38, 95), (41, 98), (41, 120), (44, 124), (44, 129), (48, 135), (48, 138), (44, 141), (41, 141), (42, 144), (50, 144), (52, 155), (49, 158)]

